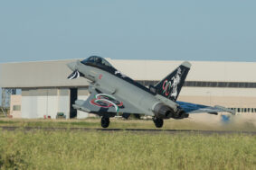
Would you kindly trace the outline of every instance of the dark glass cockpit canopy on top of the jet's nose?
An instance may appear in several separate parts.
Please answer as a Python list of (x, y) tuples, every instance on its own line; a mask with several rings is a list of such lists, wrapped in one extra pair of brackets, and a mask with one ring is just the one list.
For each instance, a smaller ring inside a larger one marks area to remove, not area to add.
[(115, 69), (106, 59), (100, 58), (99, 56), (91, 56), (90, 58), (82, 60), (81, 63), (92, 67), (99, 67), (106, 71)]

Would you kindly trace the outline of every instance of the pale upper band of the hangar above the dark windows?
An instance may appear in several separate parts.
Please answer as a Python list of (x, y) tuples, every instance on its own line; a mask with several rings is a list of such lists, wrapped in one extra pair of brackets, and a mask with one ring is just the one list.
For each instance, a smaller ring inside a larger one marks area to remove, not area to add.
[[(111, 65), (135, 80), (161, 80), (183, 61), (106, 58)], [(5, 88), (84, 86), (84, 78), (67, 79), (67, 63), (77, 59), (0, 64), (0, 86)], [(256, 82), (256, 62), (190, 61), (187, 81)]]

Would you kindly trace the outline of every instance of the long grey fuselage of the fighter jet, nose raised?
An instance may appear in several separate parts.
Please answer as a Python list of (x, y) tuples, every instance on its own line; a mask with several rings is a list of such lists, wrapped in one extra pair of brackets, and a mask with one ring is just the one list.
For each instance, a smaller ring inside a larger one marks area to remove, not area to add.
[[(139, 105), (139, 111), (133, 113), (155, 116), (156, 105), (167, 105), (173, 112), (177, 110), (177, 104), (159, 94), (154, 94), (143, 85), (138, 84), (118, 70), (107, 72), (98, 67), (86, 66), (80, 61), (72, 63), (69, 67), (78, 70), (81, 75), (91, 81), (91, 87), (106, 94), (115, 94), (119, 100), (128, 100), (131, 105)], [(159, 108), (158, 108), (159, 109)], [(169, 117), (163, 117), (167, 119)]]

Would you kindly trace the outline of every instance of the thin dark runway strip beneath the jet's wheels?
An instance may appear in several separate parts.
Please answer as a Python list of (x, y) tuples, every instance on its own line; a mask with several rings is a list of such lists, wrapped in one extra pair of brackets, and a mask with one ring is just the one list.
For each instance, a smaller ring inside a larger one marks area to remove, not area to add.
[(256, 131), (232, 131), (232, 130), (148, 130), (148, 129), (90, 129), (90, 128), (47, 128), (47, 127), (14, 127), (14, 126), (2, 126), (0, 130), (23, 130), (23, 131), (33, 131), (33, 130), (46, 130), (46, 131), (55, 131), (55, 130), (71, 130), (71, 131), (101, 131), (101, 132), (122, 132), (128, 131), (132, 133), (152, 133), (152, 134), (203, 134), (203, 135), (226, 135), (226, 134), (248, 134), (256, 135)]

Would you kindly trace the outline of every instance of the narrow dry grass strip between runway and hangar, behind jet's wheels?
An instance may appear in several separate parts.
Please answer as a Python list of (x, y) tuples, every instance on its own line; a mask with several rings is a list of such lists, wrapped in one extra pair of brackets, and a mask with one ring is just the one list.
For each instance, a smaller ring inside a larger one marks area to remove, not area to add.
[[(152, 120), (120, 120), (111, 119), (109, 129), (156, 129)], [(15, 120), (0, 119), (1, 126), (16, 127), (52, 127), (52, 128), (101, 128), (100, 119), (86, 120)], [(165, 120), (163, 130), (238, 130), (256, 131), (256, 126), (252, 122), (233, 122), (229, 124), (214, 124), (206, 122), (196, 122), (193, 120)]]

